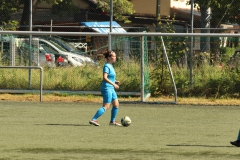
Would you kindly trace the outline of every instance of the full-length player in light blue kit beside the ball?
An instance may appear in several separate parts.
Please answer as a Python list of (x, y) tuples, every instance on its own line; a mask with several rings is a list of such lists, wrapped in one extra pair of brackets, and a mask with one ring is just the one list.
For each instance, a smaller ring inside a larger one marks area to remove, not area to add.
[(103, 80), (101, 85), (101, 93), (103, 97), (103, 106), (99, 108), (92, 120), (89, 121), (91, 125), (100, 126), (97, 119), (102, 116), (112, 103), (111, 119), (109, 125), (121, 126), (117, 123), (116, 116), (118, 114), (118, 97), (115, 89), (119, 89), (120, 82), (116, 81), (116, 73), (113, 68), (113, 63), (116, 62), (116, 53), (107, 51), (103, 53), (106, 58), (106, 63), (103, 66)]

